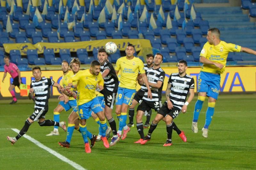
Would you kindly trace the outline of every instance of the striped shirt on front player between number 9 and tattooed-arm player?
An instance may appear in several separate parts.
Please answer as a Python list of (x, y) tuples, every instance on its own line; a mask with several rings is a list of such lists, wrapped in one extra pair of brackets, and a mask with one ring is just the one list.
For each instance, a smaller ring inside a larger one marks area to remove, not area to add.
[(145, 92), (144, 97), (142, 97), (142, 99), (147, 101), (159, 101), (159, 99), (161, 100), (162, 90), (164, 86), (164, 77), (165, 77), (165, 72), (161, 67), (157, 69), (153, 69), (153, 67), (148, 68), (147, 70), (148, 82), (156, 84), (157, 81), (162, 81), (163, 83), (159, 89), (150, 87), (151, 93), (152, 93), (152, 99), (148, 98), (148, 92)]

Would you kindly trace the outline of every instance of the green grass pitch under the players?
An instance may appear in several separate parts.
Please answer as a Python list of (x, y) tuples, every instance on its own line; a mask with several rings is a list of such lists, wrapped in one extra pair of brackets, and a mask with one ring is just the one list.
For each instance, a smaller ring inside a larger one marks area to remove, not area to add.
[[(185, 132), (188, 142), (182, 142), (173, 131), (173, 145), (170, 147), (163, 147), (167, 137), (163, 121), (158, 124), (151, 141), (145, 145), (133, 143), (140, 138), (134, 127), (125, 140), (120, 140), (109, 149), (104, 148), (102, 142), (96, 142), (90, 154), (84, 152), (83, 139), (77, 131), (74, 131), (69, 149), (57, 143), (66, 139), (66, 133), (62, 129), (59, 129), (59, 136), (45, 136), (53, 127), (40, 127), (35, 122), (30, 126), (27, 135), (85, 169), (255, 169), (255, 98), (255, 94), (221, 94), (215, 106), (209, 136), (204, 138), (201, 128), (204, 126), (207, 101), (204, 102), (199, 116), (198, 133), (194, 134), (191, 124), (197, 96), (194, 97), (188, 105), (188, 112), (180, 113), (175, 119), (177, 126)], [(24, 137), (13, 146), (6, 140), (7, 135), (16, 135), (10, 128), (20, 130), (34, 107), (29, 100), (18, 100), (14, 105), (10, 105), (9, 102), (0, 101), (0, 169), (74, 169)], [(46, 119), (53, 119), (53, 109), (57, 104), (57, 99), (49, 100)], [(69, 113), (70, 111), (62, 112), (60, 120), (67, 122)], [(113, 116), (116, 119), (114, 113), (115, 108)], [(155, 116), (154, 111), (151, 120)], [(144, 122), (145, 119), (143, 116)], [(134, 121), (136, 122), (135, 118)], [(116, 122), (118, 125), (118, 121)], [(92, 118), (87, 121), (87, 128), (93, 134), (98, 134), (98, 125)], [(147, 132), (148, 129), (144, 129), (145, 135)]]

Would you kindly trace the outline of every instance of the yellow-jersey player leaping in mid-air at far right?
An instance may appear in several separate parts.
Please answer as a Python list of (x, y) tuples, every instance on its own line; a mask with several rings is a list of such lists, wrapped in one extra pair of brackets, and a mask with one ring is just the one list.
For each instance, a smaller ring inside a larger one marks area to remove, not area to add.
[(208, 109), (206, 111), (205, 125), (202, 129), (203, 137), (208, 137), (208, 127), (212, 121), (215, 102), (220, 92), (220, 74), (225, 71), (229, 52), (246, 52), (256, 55), (256, 51), (241, 47), (236, 44), (226, 43), (220, 40), (220, 30), (210, 28), (207, 40), (200, 53), (200, 62), (203, 63), (198, 76), (198, 99), (195, 104), (192, 131), (198, 132), (197, 120), (202, 109), (205, 97), (208, 99)]

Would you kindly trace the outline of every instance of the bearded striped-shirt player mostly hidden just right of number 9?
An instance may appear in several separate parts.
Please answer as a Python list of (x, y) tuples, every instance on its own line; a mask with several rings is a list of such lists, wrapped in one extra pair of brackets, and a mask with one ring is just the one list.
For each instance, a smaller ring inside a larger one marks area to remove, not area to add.
[[(153, 67), (153, 60), (154, 60), (154, 55), (153, 54), (147, 54), (146, 55), (146, 64), (144, 64), (144, 70), (145, 73), (147, 74), (147, 70), (148, 68), (152, 68)], [(138, 76), (137, 78), (138, 80), (141, 79), (140, 76)], [(134, 117), (134, 108), (135, 106), (140, 103), (142, 101), (142, 97), (144, 96), (144, 93), (148, 91), (147, 87), (145, 86), (145, 84), (141, 85), (140, 90), (138, 90), (135, 94), (135, 96), (133, 97), (132, 100), (132, 105), (129, 107), (129, 124), (127, 126), (134, 127), (133, 124), (133, 117)], [(146, 113), (145, 113), (146, 114)], [(149, 127), (149, 121), (150, 121), (150, 117), (151, 117), (152, 111), (150, 110), (149, 112), (147, 112), (147, 120), (145, 122), (144, 128), (148, 128)]]

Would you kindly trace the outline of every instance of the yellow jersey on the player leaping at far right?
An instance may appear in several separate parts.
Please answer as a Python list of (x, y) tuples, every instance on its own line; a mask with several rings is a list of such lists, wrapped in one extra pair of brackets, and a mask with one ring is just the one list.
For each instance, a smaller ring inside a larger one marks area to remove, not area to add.
[(222, 64), (223, 68), (220, 69), (211, 64), (203, 64), (201, 71), (208, 73), (223, 73), (227, 63), (228, 52), (240, 51), (241, 46), (232, 43), (226, 43), (224, 41), (220, 41), (220, 43), (216, 46), (211, 45), (209, 42), (205, 43), (200, 56), (203, 56), (210, 61)]

